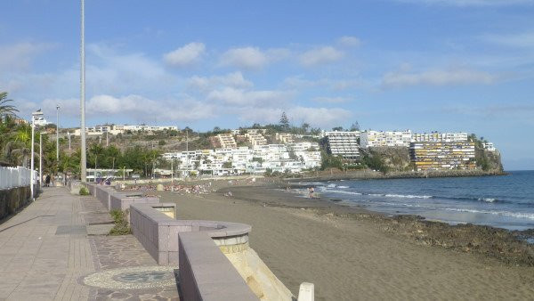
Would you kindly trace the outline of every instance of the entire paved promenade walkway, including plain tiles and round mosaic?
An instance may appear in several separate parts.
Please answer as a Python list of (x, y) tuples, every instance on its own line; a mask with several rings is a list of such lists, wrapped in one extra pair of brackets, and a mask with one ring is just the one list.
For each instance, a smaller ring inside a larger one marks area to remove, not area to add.
[(44, 188), (0, 224), (0, 300), (177, 299), (174, 271), (133, 236), (87, 234), (109, 222), (93, 197)]

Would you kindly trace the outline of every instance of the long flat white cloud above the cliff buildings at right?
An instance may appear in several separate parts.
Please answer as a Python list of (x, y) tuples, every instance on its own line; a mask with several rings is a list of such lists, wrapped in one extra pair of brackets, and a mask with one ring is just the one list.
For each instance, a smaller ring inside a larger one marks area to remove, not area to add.
[(491, 84), (497, 77), (487, 72), (470, 69), (430, 70), (419, 73), (388, 72), (382, 79), (384, 86), (407, 85), (468, 85)]

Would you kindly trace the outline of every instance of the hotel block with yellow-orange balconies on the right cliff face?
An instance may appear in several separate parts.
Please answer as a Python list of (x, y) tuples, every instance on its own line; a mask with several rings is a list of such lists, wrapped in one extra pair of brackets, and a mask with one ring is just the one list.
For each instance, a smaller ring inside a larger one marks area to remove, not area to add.
[(417, 171), (476, 168), (473, 142), (411, 142), (409, 155)]

